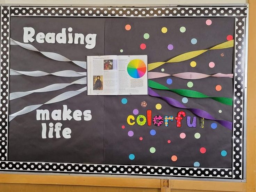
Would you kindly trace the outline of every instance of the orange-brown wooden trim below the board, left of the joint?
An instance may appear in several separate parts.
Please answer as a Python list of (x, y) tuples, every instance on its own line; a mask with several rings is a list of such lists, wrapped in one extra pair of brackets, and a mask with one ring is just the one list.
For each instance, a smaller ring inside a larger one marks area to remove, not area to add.
[(66, 175), (0, 174), (0, 183), (28, 183), (52, 185), (85, 185), (109, 187), (161, 188), (160, 179), (91, 177)]

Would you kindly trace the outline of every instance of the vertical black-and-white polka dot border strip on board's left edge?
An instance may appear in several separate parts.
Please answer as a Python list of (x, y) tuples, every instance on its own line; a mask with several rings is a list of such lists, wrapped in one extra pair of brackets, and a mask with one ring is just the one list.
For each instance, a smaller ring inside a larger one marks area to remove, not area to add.
[(8, 150), (8, 74), (10, 7), (1, 7), (1, 95), (0, 95), (0, 159), (7, 160)]

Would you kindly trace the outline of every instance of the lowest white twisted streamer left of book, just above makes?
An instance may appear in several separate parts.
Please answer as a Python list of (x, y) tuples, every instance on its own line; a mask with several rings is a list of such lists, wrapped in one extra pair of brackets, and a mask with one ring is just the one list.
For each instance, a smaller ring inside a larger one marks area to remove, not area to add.
[(47, 101), (46, 103), (43, 103), (43, 104), (38, 104), (38, 105), (29, 105), (29, 106), (26, 106), (24, 107), (22, 110), (16, 112), (16, 113), (13, 113), (11, 115), (9, 115), (9, 121), (13, 120), (15, 117), (17, 117), (18, 115), (23, 115), (23, 114), (26, 114), (26, 113), (29, 113), (31, 111), (34, 111), (35, 109), (38, 109), (39, 107), (41, 107), (42, 105), (46, 105), (46, 104), (51, 104), (51, 103), (57, 103), (57, 102), (60, 102), (60, 101), (64, 101), (66, 99), (69, 99), (71, 97), (74, 97), (80, 93), (82, 93), (83, 91), (86, 91), (87, 90), (87, 87), (84, 87), (82, 89), (78, 89), (78, 90), (75, 90), (75, 91), (67, 91), (65, 93), (62, 93), (52, 99), (50, 99), (49, 101)]

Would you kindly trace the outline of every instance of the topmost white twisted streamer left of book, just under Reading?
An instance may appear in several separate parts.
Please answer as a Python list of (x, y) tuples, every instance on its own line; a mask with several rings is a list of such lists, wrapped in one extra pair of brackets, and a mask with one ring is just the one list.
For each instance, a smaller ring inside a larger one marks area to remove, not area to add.
[(62, 56), (62, 55), (60, 55), (58, 53), (39, 51), (33, 45), (30, 45), (28, 43), (21, 43), (21, 42), (13, 40), (11, 38), (10, 38), (10, 45), (19, 45), (19, 46), (23, 47), (24, 49), (40, 52), (44, 56), (46, 56), (46, 57), (48, 57), (50, 59), (56, 60), (56, 61), (71, 61), (74, 64), (76, 64), (76, 65), (86, 69), (86, 62), (85, 61), (72, 61), (72, 60), (70, 60), (70, 59), (68, 59), (68, 58), (66, 58), (66, 57), (64, 57), (64, 56)]

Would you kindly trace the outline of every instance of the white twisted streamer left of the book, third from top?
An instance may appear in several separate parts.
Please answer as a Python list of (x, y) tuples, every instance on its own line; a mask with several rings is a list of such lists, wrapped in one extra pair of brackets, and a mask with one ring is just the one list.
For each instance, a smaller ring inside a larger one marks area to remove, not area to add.
[(46, 87), (31, 90), (31, 91), (13, 92), (13, 93), (10, 93), (9, 98), (10, 98), (10, 100), (13, 100), (13, 99), (17, 99), (17, 98), (20, 98), (20, 97), (24, 97), (24, 96), (29, 95), (31, 93), (42, 93), (42, 92), (48, 92), (48, 91), (56, 91), (56, 90), (59, 90), (59, 89), (63, 89), (67, 86), (73, 85), (73, 84), (83, 85), (83, 84), (86, 84), (86, 83), (87, 83), (87, 79), (86, 79), (86, 77), (84, 77), (84, 78), (78, 79), (78, 80), (76, 80), (72, 83), (55, 83), (55, 84), (48, 85)]

